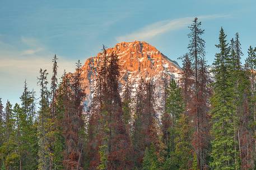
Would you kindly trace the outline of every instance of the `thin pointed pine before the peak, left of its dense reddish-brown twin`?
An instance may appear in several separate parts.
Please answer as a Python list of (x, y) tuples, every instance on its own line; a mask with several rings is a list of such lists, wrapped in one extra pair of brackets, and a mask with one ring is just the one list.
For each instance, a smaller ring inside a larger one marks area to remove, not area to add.
[(90, 169), (106, 169), (108, 164), (106, 127), (104, 116), (106, 115), (106, 71), (108, 56), (106, 56), (105, 46), (103, 55), (99, 59), (99, 67), (96, 70), (96, 85), (94, 96), (89, 106), (89, 157)]

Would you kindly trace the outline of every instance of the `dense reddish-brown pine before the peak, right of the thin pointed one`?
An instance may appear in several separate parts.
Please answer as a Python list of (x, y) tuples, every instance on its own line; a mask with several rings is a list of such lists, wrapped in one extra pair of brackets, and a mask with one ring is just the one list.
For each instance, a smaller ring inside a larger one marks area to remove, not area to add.
[(111, 54), (108, 72), (109, 155), (108, 169), (131, 169), (131, 141), (123, 122), (122, 101), (119, 95), (120, 67), (118, 56)]

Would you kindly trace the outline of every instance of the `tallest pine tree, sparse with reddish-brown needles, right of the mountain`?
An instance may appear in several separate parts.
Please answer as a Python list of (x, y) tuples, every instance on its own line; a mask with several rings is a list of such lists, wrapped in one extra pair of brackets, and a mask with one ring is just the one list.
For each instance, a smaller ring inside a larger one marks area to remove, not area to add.
[[(204, 111), (207, 108), (207, 103), (202, 102), (201, 99), (206, 97), (207, 95), (203, 94), (202, 91), (202, 84), (200, 84), (200, 79), (202, 76), (205, 76), (208, 79), (208, 75), (201, 72), (200, 62), (204, 62), (204, 55), (205, 55), (205, 41), (202, 39), (202, 35), (204, 30), (201, 29), (201, 22), (198, 22), (198, 18), (195, 18), (193, 24), (189, 27), (190, 33), (188, 37), (190, 38), (188, 50), (189, 50), (189, 57), (192, 63), (193, 69), (193, 79), (194, 79), (194, 88), (193, 88), (193, 95), (192, 100), (194, 105), (192, 105), (192, 113), (194, 116), (195, 122), (195, 133), (194, 133), (194, 148), (196, 149), (197, 154), (197, 162), (198, 168), (204, 169), (207, 166), (207, 145), (208, 141), (205, 140), (206, 138), (201, 137), (202, 132), (208, 132), (208, 128), (206, 128), (207, 122), (204, 121), (207, 117), (207, 112)], [(200, 75), (201, 74), (201, 75)], [(203, 75), (202, 75), (203, 74)], [(201, 81), (202, 82), (202, 81)], [(207, 84), (207, 82), (205, 82)], [(200, 87), (201, 86), (201, 87)], [(208, 97), (208, 96), (207, 96)]]

